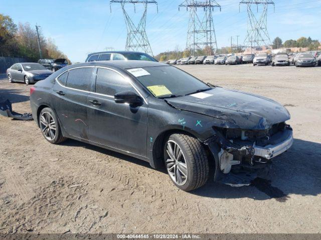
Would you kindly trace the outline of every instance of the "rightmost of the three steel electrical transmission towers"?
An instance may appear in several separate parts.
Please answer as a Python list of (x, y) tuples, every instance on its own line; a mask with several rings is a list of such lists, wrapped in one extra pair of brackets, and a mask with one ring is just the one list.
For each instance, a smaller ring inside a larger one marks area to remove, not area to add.
[[(247, 35), (244, 40), (244, 46), (258, 50), (262, 45), (270, 45), (271, 39), (267, 31), (267, 9), (268, 5), (272, 4), (272, 0), (242, 0), (240, 4), (247, 6)], [(262, 6), (262, 12), (258, 13), (259, 6)], [(253, 8), (256, 8), (257, 14), (254, 13)]]

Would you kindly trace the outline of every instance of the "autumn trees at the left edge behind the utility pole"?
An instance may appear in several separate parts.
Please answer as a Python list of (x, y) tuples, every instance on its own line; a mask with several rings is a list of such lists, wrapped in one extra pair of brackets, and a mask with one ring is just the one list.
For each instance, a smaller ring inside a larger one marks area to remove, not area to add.
[[(41, 31), (39, 38), (43, 58), (66, 58), (69, 61), (52, 38), (46, 38)], [(38, 61), (40, 53), (36, 28), (29, 22), (17, 25), (10, 16), (0, 14), (0, 54)]]

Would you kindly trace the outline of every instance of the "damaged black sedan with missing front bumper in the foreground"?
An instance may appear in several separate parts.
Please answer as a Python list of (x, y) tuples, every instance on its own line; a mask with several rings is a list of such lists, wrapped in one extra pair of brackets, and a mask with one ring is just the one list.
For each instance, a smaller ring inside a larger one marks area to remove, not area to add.
[(281, 104), (159, 62), (70, 65), (37, 82), (30, 100), (49, 142), (73, 138), (165, 166), (186, 191), (205, 184), (210, 166), (216, 181), (250, 184), (293, 141)]

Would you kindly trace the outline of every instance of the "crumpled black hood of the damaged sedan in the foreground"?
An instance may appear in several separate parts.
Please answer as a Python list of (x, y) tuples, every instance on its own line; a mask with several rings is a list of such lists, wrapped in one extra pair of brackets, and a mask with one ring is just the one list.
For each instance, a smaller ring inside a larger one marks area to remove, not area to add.
[(220, 127), (261, 130), (290, 119), (284, 106), (259, 95), (221, 87), (203, 93), (211, 95), (204, 99), (187, 95), (166, 101), (181, 110), (218, 118), (222, 120)]

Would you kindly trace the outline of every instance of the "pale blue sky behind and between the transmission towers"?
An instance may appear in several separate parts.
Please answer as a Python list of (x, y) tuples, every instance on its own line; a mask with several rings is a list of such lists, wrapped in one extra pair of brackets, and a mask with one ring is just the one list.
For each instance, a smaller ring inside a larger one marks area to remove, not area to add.
[[(189, 14), (178, 10), (184, 0), (158, 0), (150, 4), (147, 12), (146, 32), (154, 54), (186, 46)], [(222, 11), (215, 10), (214, 25), (219, 47), (230, 44), (231, 36), (246, 36), (246, 7), (239, 0), (217, 0)], [(109, 0), (0, 0), (0, 12), (10, 15), (16, 23), (29, 22), (41, 25), (43, 34), (54, 39), (59, 49), (71, 61), (84, 61), (88, 52), (106, 47), (123, 50), (126, 27), (122, 11)], [(137, 21), (140, 8), (128, 7), (129, 15)], [(271, 39), (297, 39), (311, 36), (321, 40), (321, 0), (275, 0), (268, 11), (268, 30)], [(236, 41), (236, 37), (235, 37)], [(236, 42), (235, 42), (236, 43)]]

